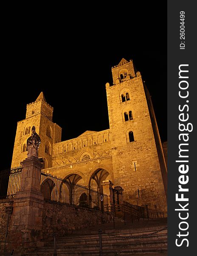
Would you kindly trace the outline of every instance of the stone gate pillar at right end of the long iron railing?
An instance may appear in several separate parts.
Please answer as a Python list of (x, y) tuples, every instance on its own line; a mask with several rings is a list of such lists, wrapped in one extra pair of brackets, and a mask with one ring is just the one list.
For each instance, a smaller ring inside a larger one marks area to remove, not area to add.
[[(105, 208), (107, 207), (107, 210), (111, 212), (114, 210), (113, 190), (112, 190), (113, 183), (110, 180), (103, 180), (103, 183), (101, 183), (101, 185), (103, 186), (103, 194), (107, 195), (107, 201), (104, 201), (104, 207)], [(105, 200), (105, 196), (104, 196), (104, 200)]]

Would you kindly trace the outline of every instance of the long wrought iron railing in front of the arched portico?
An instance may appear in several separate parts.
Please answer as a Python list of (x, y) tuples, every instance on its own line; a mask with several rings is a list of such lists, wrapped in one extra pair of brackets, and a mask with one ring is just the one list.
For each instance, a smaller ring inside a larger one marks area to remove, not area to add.
[(107, 195), (41, 171), (41, 192), (45, 200), (105, 210)]

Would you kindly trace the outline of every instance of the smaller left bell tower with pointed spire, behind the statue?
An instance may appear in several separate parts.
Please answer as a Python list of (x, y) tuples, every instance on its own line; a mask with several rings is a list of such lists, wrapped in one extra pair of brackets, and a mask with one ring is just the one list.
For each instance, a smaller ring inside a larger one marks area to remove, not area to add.
[(11, 168), (20, 166), (27, 157), (27, 139), (35, 126), (42, 144), (39, 147), (39, 157), (44, 160), (43, 168), (52, 167), (53, 145), (61, 141), (62, 128), (53, 123), (53, 107), (45, 100), (41, 92), (35, 102), (27, 105), (26, 118), (17, 123)]

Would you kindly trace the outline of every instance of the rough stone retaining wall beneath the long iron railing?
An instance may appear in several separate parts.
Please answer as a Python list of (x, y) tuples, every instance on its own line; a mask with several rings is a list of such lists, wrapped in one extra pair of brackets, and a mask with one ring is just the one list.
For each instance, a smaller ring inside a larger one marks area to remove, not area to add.
[(53, 234), (64, 236), (89, 226), (112, 222), (112, 214), (84, 207), (45, 201), (43, 209), (43, 239), (51, 240)]

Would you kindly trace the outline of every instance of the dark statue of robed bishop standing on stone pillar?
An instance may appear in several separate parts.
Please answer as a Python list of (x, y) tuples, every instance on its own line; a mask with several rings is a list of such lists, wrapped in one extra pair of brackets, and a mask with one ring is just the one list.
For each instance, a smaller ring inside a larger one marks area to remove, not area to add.
[(35, 156), (38, 157), (38, 148), (41, 143), (39, 135), (36, 133), (35, 126), (31, 129), (31, 137), (27, 139), (27, 157)]

